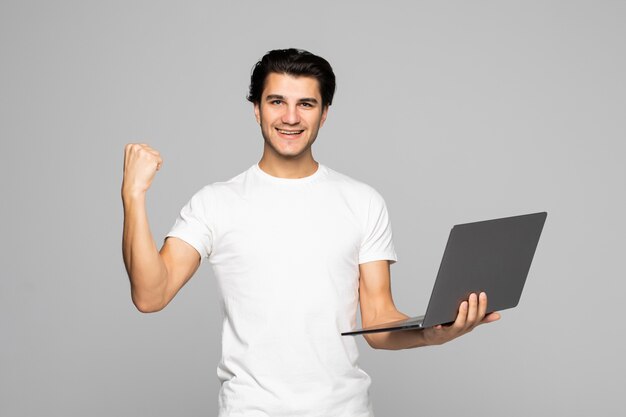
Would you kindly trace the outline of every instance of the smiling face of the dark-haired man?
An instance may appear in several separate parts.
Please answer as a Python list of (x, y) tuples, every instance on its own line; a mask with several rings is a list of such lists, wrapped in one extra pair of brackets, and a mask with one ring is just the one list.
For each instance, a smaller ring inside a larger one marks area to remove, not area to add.
[(310, 153), (327, 112), (315, 78), (277, 73), (267, 76), (261, 100), (254, 105), (266, 151), (287, 159)]

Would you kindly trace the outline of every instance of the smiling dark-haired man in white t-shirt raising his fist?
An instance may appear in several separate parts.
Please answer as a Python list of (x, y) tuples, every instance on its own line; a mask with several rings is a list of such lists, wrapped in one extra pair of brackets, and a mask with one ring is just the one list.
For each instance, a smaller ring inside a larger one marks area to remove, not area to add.
[[(326, 60), (288, 49), (254, 67), (248, 99), (265, 141), (258, 164), (207, 185), (183, 207), (160, 252), (145, 195), (162, 159), (125, 150), (124, 262), (134, 304), (164, 308), (208, 258), (224, 312), (220, 416), (372, 416), (369, 376), (357, 365), (364, 326), (406, 318), (394, 306), (396, 261), (385, 202), (366, 184), (313, 159), (335, 91)], [(495, 321), (485, 294), (451, 326), (366, 335), (376, 349), (437, 345)]]

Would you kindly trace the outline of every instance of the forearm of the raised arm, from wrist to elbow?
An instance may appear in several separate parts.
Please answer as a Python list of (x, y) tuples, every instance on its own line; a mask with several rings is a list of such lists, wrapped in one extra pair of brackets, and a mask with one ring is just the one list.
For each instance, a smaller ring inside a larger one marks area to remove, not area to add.
[(145, 193), (123, 193), (122, 201), (122, 252), (133, 303), (141, 311), (157, 311), (165, 304), (167, 268), (150, 231)]

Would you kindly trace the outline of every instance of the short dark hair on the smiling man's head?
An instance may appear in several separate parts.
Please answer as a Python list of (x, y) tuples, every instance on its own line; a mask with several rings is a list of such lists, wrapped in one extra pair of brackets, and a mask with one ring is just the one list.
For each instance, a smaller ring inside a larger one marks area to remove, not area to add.
[(270, 73), (307, 76), (317, 79), (322, 105), (330, 106), (335, 94), (335, 74), (328, 61), (302, 49), (276, 49), (266, 53), (252, 69), (248, 101), (259, 103)]

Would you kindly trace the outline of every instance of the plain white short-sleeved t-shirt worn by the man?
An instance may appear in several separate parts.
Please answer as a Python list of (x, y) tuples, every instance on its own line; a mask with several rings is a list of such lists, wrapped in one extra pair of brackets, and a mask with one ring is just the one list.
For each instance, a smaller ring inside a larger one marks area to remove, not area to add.
[(208, 258), (221, 290), (220, 417), (371, 417), (357, 365), (359, 264), (397, 260), (383, 198), (319, 164), (273, 177), (258, 164), (210, 184), (167, 236)]

